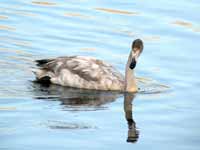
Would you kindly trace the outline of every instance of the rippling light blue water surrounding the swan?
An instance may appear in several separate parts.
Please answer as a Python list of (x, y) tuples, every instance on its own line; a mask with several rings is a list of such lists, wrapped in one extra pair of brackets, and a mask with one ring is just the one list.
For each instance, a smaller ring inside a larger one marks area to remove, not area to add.
[[(200, 148), (197, 0), (1, 0), (0, 149)], [(89, 55), (122, 73), (133, 39), (141, 92), (34, 84), (34, 60)]]

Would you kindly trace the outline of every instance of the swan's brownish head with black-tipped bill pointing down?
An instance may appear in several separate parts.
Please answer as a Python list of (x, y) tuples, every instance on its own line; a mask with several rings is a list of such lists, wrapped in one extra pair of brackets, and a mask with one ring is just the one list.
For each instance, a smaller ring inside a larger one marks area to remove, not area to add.
[(131, 62), (130, 62), (130, 69), (134, 69), (136, 67), (138, 58), (143, 51), (143, 42), (141, 39), (136, 39), (132, 43), (132, 51), (131, 51)]

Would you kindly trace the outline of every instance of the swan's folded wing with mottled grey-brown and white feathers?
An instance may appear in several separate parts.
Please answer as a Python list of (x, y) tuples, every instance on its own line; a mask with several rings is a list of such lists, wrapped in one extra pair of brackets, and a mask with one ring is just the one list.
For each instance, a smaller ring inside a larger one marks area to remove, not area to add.
[(92, 58), (78, 56), (58, 57), (39, 66), (43, 70), (53, 72), (55, 76), (59, 76), (63, 70), (68, 70), (86, 81), (98, 81), (102, 74), (100, 66), (94, 63)]

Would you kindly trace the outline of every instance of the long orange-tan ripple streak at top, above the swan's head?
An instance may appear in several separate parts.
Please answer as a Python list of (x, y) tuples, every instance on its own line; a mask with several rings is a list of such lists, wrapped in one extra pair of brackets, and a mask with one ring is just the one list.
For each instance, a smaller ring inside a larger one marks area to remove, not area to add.
[(95, 8), (98, 11), (112, 13), (112, 14), (121, 14), (121, 15), (138, 15), (138, 12), (130, 12), (125, 10), (117, 10), (117, 9), (110, 9), (110, 8)]

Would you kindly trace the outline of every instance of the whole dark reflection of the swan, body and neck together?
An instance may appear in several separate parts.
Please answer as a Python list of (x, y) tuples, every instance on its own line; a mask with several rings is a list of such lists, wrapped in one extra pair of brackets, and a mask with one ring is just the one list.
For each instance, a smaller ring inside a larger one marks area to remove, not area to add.
[[(122, 93), (108, 91), (94, 91), (67, 88), (57, 85), (43, 86), (33, 84), (34, 97), (36, 99), (59, 100), (64, 110), (70, 111), (95, 111), (106, 109), (105, 104), (114, 102)], [(127, 142), (136, 142), (139, 132), (132, 117), (132, 102), (135, 95), (124, 94), (124, 112), (128, 123)]]

